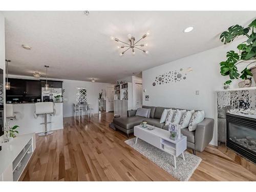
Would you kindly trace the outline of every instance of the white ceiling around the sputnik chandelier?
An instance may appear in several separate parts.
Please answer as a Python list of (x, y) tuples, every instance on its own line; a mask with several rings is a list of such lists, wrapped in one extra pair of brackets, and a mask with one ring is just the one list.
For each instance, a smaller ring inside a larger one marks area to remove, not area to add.
[[(247, 25), (254, 11), (4, 11), (9, 73), (115, 82), (133, 72), (162, 65), (222, 45), (219, 35), (229, 26)], [(190, 33), (183, 30), (193, 26)], [(110, 36), (139, 39), (146, 31), (150, 54), (136, 50), (119, 56)], [(25, 50), (22, 44), (32, 47)]]

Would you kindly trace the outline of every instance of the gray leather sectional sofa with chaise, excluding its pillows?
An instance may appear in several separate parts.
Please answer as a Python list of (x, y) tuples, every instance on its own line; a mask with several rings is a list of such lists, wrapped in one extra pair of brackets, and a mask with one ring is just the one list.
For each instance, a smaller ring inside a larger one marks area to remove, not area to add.
[[(161, 106), (142, 106), (142, 108), (151, 109), (150, 118), (135, 116), (136, 110), (127, 111), (127, 117), (114, 118), (113, 123), (115, 128), (126, 133), (127, 137), (134, 131), (134, 126), (139, 125), (142, 121), (146, 121), (150, 125), (155, 125), (164, 130), (168, 130), (168, 125), (160, 123), (160, 119), (164, 109)], [(174, 108), (172, 108), (174, 109)], [(197, 125), (195, 131), (190, 132), (188, 128), (181, 129), (181, 133), (187, 137), (187, 147), (196, 151), (202, 152), (209, 144), (214, 134), (214, 119), (204, 118), (204, 120)]]

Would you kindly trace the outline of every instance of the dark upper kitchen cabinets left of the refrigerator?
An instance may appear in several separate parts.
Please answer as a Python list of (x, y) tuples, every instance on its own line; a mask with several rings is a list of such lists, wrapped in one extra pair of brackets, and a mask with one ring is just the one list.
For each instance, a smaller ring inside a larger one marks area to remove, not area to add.
[(7, 96), (40, 96), (41, 82), (39, 80), (8, 78), (11, 89), (6, 90)]

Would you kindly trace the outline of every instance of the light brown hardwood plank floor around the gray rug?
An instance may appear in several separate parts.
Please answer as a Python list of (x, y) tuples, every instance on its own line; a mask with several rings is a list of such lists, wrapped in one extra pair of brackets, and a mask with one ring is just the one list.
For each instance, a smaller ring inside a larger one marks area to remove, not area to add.
[[(80, 122), (64, 118), (63, 130), (36, 137), (36, 150), (20, 180), (177, 181), (125, 144), (126, 136), (109, 128), (112, 119), (112, 113)], [(203, 160), (190, 181), (256, 181), (256, 175), (214, 146), (197, 155)]]

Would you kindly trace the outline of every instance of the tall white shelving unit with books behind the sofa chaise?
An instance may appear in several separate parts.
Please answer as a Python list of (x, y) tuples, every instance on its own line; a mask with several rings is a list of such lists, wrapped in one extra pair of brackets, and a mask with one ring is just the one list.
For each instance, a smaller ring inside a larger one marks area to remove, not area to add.
[(132, 83), (116, 84), (114, 87), (114, 114), (121, 117), (127, 115), (127, 110), (133, 107)]

